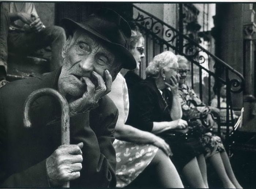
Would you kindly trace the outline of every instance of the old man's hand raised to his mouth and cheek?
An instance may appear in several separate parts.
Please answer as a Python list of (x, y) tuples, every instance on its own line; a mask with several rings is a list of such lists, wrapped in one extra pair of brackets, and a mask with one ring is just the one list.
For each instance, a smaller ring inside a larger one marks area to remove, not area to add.
[(97, 80), (98, 86), (95, 86), (90, 78), (82, 77), (87, 86), (87, 90), (81, 98), (75, 99), (69, 103), (70, 115), (93, 109), (99, 99), (111, 91), (112, 76), (108, 70), (105, 70), (104, 72), (105, 82), (101, 75), (95, 71), (92, 72), (93, 77)]

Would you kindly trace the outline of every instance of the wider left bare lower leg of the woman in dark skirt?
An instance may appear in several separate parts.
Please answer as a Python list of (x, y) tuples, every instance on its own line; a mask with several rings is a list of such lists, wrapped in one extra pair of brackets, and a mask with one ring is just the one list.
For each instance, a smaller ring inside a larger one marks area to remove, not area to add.
[(192, 188), (206, 188), (196, 158), (193, 158), (183, 167), (182, 173)]

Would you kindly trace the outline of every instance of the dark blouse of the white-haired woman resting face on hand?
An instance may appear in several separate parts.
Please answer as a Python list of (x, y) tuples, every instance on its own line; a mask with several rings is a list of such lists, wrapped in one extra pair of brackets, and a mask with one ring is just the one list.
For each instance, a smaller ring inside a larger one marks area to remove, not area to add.
[[(168, 90), (165, 90), (163, 94), (166, 92)], [(153, 78), (147, 78), (136, 84), (130, 95), (132, 101), (126, 123), (143, 131), (151, 132), (153, 122), (172, 121), (170, 117), (172, 93), (170, 91), (168, 93), (169, 98), (165, 101)]]

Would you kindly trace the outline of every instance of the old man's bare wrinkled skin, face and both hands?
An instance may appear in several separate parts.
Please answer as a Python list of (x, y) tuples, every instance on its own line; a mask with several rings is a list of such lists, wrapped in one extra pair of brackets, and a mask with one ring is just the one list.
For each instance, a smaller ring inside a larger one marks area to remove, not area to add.
[[(68, 100), (71, 116), (92, 109), (110, 92), (112, 76), (116, 77), (121, 63), (117, 64), (115, 56), (96, 38), (79, 30), (65, 43), (62, 56), (58, 89)], [(80, 177), (82, 147), (83, 143), (61, 145), (46, 159), (51, 186)]]

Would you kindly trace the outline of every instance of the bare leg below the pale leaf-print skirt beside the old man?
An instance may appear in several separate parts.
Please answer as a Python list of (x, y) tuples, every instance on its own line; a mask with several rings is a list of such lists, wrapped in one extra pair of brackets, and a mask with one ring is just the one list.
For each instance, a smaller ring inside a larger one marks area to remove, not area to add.
[(159, 149), (157, 151), (157, 154), (150, 164), (155, 166), (161, 187), (184, 188), (176, 167), (162, 150)]

